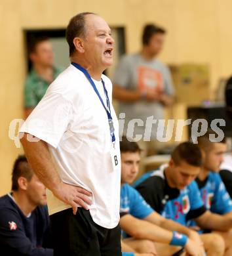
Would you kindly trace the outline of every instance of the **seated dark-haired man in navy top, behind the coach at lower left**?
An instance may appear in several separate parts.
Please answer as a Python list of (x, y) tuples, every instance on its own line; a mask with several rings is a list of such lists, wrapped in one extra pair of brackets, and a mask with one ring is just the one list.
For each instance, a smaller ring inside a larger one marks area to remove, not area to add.
[(52, 256), (45, 186), (25, 156), (12, 171), (12, 192), (0, 198), (1, 255)]

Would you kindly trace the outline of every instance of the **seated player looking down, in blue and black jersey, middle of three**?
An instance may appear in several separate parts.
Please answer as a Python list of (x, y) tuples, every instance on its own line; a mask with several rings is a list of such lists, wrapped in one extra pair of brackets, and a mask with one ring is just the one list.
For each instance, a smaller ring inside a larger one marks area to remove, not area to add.
[[(232, 218), (207, 211), (194, 181), (202, 161), (199, 146), (191, 142), (181, 143), (172, 152), (168, 164), (150, 172), (149, 177), (146, 174), (145, 180), (144, 177), (138, 180), (136, 189), (163, 217), (185, 226), (187, 221), (194, 219), (203, 229), (227, 231), (232, 226)], [(201, 240), (207, 255), (223, 255), (225, 243), (222, 236), (201, 234)]]

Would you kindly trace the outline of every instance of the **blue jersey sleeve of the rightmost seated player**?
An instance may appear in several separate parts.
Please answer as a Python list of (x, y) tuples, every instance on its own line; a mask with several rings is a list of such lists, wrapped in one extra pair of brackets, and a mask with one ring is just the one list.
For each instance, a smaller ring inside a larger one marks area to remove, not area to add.
[(210, 210), (218, 214), (229, 213), (232, 211), (231, 197), (229, 196), (225, 185), (223, 184), (223, 181), (218, 173), (215, 173), (214, 181), (216, 184), (216, 189)]

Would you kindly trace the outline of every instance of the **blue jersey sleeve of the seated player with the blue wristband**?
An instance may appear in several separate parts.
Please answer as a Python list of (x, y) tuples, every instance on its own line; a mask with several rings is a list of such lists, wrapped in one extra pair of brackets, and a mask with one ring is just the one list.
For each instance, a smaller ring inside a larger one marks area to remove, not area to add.
[(144, 219), (153, 213), (151, 206), (145, 202), (140, 193), (132, 187), (130, 187), (130, 202), (130, 214), (138, 219)]

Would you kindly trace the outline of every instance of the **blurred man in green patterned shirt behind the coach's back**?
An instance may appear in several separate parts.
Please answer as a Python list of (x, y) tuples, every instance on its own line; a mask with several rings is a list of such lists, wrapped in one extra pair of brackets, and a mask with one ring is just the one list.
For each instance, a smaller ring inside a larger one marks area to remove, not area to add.
[(54, 54), (48, 37), (33, 39), (29, 45), (29, 59), (32, 63), (31, 72), (26, 77), (24, 85), (24, 115), (25, 118), (45, 95), (48, 85), (58, 77), (59, 68), (53, 66)]

